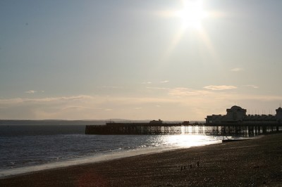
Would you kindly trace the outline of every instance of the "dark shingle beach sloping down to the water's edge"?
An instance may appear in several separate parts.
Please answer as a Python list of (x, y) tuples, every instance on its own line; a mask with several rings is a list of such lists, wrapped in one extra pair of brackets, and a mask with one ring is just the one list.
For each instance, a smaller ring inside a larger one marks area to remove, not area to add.
[(282, 186), (282, 134), (21, 174), (0, 186)]

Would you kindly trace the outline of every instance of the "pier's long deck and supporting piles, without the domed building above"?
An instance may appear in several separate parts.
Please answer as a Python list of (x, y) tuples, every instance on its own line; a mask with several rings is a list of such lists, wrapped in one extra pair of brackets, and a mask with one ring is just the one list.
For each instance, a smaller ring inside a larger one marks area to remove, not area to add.
[(87, 125), (85, 134), (218, 134), (257, 135), (282, 131), (282, 124), (151, 124), (110, 123)]

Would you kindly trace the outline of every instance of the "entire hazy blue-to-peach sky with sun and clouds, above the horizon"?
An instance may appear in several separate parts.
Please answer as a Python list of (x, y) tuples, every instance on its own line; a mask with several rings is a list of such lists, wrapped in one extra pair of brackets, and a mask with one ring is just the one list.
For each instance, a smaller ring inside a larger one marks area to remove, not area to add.
[(0, 119), (204, 120), (282, 103), (280, 0), (1, 0)]

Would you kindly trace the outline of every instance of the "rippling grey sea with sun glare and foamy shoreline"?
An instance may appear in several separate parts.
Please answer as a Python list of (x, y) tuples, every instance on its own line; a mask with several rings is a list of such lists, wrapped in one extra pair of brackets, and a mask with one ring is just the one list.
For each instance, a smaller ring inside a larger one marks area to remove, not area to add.
[(221, 143), (222, 136), (86, 135), (85, 125), (1, 124), (0, 178), (43, 169)]

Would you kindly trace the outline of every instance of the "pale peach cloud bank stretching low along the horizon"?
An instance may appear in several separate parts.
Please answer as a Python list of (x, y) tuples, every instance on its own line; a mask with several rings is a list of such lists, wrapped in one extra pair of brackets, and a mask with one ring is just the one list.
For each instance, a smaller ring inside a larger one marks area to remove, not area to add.
[[(0, 99), (0, 119), (15, 120), (204, 120), (211, 114), (224, 114), (234, 102), (253, 108), (259, 103), (274, 110), (282, 96), (223, 92), (235, 86), (207, 86), (209, 89), (152, 89), (148, 96), (62, 96), (47, 98)], [(160, 93), (158, 96), (156, 93)]]

